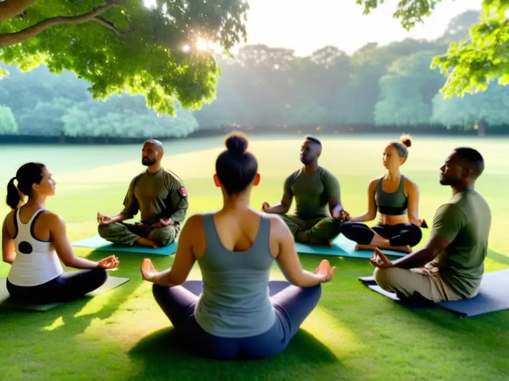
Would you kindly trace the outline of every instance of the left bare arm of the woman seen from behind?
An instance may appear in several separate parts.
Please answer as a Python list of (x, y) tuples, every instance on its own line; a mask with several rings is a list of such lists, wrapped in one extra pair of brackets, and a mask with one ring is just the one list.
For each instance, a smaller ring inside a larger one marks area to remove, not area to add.
[(196, 261), (192, 242), (195, 240), (193, 232), (198, 229), (203, 230), (202, 217), (199, 215), (189, 217), (180, 233), (173, 266), (157, 273), (157, 275), (151, 279), (153, 283), (164, 287), (174, 287), (185, 282)]

